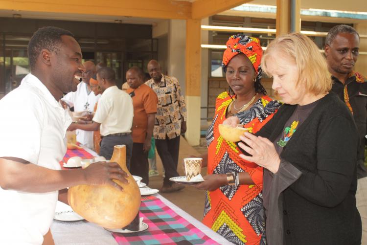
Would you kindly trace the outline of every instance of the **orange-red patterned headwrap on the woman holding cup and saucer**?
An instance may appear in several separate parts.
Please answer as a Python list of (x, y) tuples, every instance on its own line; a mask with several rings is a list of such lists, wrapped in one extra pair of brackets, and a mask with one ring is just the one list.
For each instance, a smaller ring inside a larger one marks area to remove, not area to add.
[[(257, 38), (248, 37), (243, 34), (236, 34), (227, 41), (227, 49), (223, 54), (222, 67), (227, 67), (229, 61), (237, 54), (245, 54), (252, 62), (256, 73), (261, 76), (262, 48)], [(260, 71), (260, 72), (259, 72)]]

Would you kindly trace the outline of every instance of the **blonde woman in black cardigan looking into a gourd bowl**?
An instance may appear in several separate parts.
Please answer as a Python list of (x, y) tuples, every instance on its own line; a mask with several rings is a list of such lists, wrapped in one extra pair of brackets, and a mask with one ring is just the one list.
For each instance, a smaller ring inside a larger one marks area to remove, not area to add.
[(309, 38), (292, 33), (268, 46), (261, 67), (285, 104), (239, 146), (252, 155), (240, 157), (264, 167), (268, 244), (360, 245), (358, 133), (344, 103), (328, 92), (323, 56)]

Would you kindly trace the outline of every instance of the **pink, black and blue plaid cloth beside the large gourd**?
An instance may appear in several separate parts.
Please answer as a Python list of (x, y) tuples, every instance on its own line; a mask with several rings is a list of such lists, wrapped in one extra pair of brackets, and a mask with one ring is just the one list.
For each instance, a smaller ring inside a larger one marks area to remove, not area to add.
[(139, 233), (113, 233), (119, 245), (218, 244), (158, 198), (143, 198), (139, 215), (149, 228)]

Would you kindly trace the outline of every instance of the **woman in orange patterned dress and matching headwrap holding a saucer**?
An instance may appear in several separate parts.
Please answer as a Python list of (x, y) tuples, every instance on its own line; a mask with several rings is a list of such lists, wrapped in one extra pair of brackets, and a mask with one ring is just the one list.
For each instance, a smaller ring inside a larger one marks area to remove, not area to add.
[(240, 124), (256, 133), (280, 107), (260, 84), (261, 56), (258, 39), (242, 34), (229, 38), (222, 63), (229, 92), (217, 97), (206, 134), (207, 175), (195, 185), (207, 190), (203, 223), (233, 244), (265, 245), (263, 168), (239, 157), (238, 146), (223, 139), (218, 125), (236, 115)]

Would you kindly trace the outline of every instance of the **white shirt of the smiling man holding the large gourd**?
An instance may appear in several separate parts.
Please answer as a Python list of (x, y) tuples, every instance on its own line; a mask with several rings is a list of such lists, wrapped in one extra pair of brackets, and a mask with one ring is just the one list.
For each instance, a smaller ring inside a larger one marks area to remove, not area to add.
[[(0, 111), (0, 157), (61, 169), (71, 118), (37, 77), (26, 75), (19, 88), (0, 100)], [(0, 244), (42, 244), (57, 197), (57, 191), (38, 194), (0, 188)]]

